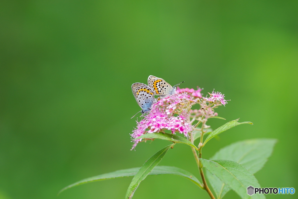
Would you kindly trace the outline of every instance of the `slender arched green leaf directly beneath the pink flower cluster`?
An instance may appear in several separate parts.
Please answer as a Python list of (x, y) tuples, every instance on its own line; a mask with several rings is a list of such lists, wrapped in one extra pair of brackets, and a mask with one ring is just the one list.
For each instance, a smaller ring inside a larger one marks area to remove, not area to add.
[(174, 135), (174, 134), (169, 134), (169, 133), (146, 133), (144, 135), (141, 135), (137, 138), (135, 138), (134, 140), (138, 140), (140, 138), (149, 138), (149, 139), (162, 139), (162, 140), (167, 140), (167, 141), (171, 141), (174, 143), (182, 143), (182, 144), (187, 144), (189, 146), (194, 147), (196, 150), (198, 150), (198, 148), (191, 143), (190, 141), (188, 141), (185, 138), (182, 138), (181, 136), (178, 135)]

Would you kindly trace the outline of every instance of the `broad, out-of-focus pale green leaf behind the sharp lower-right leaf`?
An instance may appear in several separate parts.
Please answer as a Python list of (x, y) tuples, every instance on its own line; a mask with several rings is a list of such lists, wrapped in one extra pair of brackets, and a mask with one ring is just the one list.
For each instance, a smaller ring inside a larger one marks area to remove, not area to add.
[[(238, 162), (254, 174), (262, 169), (267, 162), (276, 142), (276, 139), (268, 138), (239, 141), (220, 149), (210, 159), (225, 159)], [(215, 191), (217, 198), (224, 197), (230, 190), (229, 186), (221, 182), (219, 178), (212, 175), (210, 172), (207, 172), (206, 176)]]

